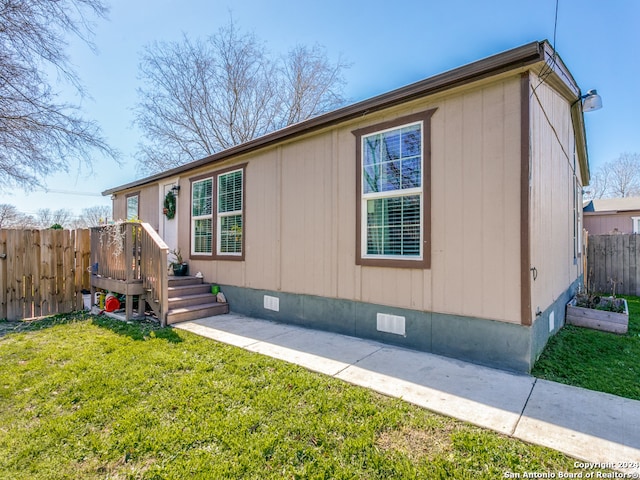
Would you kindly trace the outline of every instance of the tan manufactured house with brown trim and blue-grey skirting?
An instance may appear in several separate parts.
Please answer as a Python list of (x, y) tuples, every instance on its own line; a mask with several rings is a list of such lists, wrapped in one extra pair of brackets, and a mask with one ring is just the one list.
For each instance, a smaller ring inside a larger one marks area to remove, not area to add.
[(526, 372), (583, 275), (580, 97), (534, 42), (104, 194), (232, 311)]

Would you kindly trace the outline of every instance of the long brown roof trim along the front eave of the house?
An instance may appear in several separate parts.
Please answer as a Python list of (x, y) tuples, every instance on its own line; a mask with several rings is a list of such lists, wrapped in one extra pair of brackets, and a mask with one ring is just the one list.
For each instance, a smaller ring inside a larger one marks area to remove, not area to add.
[[(119, 187), (110, 188), (102, 192), (102, 194), (111, 195), (122, 190), (135, 188), (163, 178), (172, 177), (185, 171), (202, 167), (210, 163), (219, 162), (234, 155), (248, 153), (298, 135), (309, 133), (313, 130), (318, 130), (346, 120), (358, 118), (384, 108), (389, 108), (413, 99), (431, 95), (455, 86), (464, 85), (466, 83), (497, 75), (509, 70), (525, 67), (545, 60), (546, 55), (548, 55), (549, 48), (549, 43), (546, 40), (541, 42), (532, 42), (462, 67), (449, 70), (448, 72), (435, 75), (425, 80), (412, 83), (397, 90), (378, 95), (368, 100), (354, 103), (324, 115), (290, 125), (241, 145), (228, 148), (222, 152), (167, 170), (166, 172), (136, 180)], [(557, 57), (556, 62), (559, 64), (562, 63), (559, 57)]]

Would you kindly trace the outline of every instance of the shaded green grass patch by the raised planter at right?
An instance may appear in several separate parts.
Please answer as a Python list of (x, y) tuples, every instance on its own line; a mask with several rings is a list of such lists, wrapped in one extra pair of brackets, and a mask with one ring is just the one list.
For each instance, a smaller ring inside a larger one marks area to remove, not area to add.
[(640, 297), (624, 298), (626, 335), (567, 325), (549, 340), (533, 375), (640, 400)]

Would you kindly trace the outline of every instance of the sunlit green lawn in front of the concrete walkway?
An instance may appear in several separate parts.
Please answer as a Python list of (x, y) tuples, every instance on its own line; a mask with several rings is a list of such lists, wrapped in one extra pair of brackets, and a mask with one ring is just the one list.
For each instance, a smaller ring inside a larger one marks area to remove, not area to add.
[(0, 337), (0, 478), (504, 478), (574, 460), (188, 332), (84, 314)]

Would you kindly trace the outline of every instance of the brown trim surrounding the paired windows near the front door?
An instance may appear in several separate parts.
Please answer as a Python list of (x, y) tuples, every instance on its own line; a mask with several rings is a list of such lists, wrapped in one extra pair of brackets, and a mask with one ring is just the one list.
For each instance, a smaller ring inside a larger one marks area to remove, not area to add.
[[(217, 223), (217, 214), (218, 211), (218, 177), (220, 175), (224, 175), (225, 173), (233, 172), (234, 170), (242, 170), (242, 253), (240, 255), (218, 255), (216, 252), (218, 251), (218, 223)], [(189, 188), (189, 259), (190, 260), (230, 260), (235, 262), (243, 262), (244, 261), (244, 252), (245, 252), (245, 238), (246, 238), (246, 228), (245, 228), (245, 219), (247, 215), (246, 210), (246, 172), (247, 172), (247, 163), (242, 163), (240, 165), (235, 165), (233, 167), (223, 168), (222, 170), (215, 170), (213, 172), (204, 173), (195, 177), (191, 177), (189, 179), (190, 188)], [(206, 178), (211, 178), (212, 188), (211, 194), (212, 198), (212, 226), (213, 226), (213, 237), (211, 241), (211, 254), (193, 254), (191, 247), (193, 241), (193, 221), (192, 221), (192, 205), (191, 202), (193, 200), (193, 183), (199, 180), (204, 180)]]

